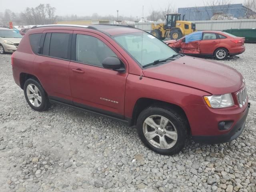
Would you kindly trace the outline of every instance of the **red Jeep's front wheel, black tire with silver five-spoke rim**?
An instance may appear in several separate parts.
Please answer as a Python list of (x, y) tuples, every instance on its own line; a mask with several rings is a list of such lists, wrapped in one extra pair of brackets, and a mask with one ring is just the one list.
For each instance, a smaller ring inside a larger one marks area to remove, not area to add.
[(138, 116), (137, 131), (148, 148), (159, 154), (173, 155), (179, 153), (185, 145), (186, 122), (175, 110), (150, 106)]

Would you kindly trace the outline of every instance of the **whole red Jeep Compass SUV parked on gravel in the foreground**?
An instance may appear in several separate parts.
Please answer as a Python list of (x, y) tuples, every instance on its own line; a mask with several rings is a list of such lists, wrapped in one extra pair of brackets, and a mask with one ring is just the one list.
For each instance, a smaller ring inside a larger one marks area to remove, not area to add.
[(12, 54), (12, 71), (34, 110), (57, 102), (136, 125), (160, 154), (180, 152), (188, 136), (234, 140), (250, 106), (238, 71), (130, 26), (35, 26)]

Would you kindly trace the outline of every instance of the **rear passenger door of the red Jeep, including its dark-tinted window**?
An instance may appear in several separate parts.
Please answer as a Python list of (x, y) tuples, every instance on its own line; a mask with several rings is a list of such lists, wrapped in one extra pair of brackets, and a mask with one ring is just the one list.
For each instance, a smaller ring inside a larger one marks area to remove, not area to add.
[(38, 79), (49, 96), (72, 102), (69, 70), (72, 30), (45, 30), (34, 60)]

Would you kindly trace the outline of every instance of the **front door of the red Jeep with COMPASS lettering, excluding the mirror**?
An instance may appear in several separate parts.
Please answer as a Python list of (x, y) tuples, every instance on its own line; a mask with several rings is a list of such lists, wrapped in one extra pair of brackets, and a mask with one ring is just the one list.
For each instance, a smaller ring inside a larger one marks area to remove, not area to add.
[[(111, 56), (124, 62), (125, 73), (103, 68), (102, 61)], [(128, 64), (122, 55), (102, 36), (74, 31), (71, 58), (69, 74), (74, 105), (123, 118)]]

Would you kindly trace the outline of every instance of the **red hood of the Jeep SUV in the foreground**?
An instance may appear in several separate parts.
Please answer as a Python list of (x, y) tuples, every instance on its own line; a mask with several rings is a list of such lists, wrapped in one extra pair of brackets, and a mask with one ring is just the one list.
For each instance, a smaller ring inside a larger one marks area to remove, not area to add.
[(242, 88), (242, 75), (235, 69), (189, 56), (143, 70), (148, 78), (155, 78), (218, 95), (233, 93)]

